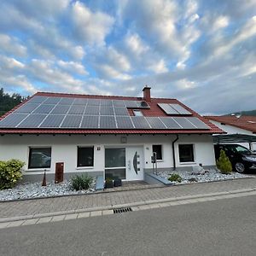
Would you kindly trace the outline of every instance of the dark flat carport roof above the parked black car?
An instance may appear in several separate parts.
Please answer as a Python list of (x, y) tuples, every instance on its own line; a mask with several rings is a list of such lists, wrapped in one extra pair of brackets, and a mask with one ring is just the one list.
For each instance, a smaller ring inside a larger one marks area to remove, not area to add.
[(213, 136), (213, 142), (216, 144), (224, 143), (248, 143), (249, 148), (253, 150), (253, 143), (256, 143), (256, 136), (247, 134), (226, 134)]

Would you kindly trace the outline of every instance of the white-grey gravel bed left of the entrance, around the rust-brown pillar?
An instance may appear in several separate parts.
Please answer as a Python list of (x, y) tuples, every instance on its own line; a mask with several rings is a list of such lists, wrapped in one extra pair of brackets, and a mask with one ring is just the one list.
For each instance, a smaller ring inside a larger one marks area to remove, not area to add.
[(21, 183), (13, 189), (0, 190), (0, 201), (10, 201), (19, 199), (29, 199), (37, 197), (49, 197), (56, 195), (81, 195), (93, 193), (96, 191), (96, 179), (90, 186), (90, 189), (75, 191), (71, 189), (71, 182), (68, 180), (62, 183), (48, 182), (46, 187), (42, 183)]

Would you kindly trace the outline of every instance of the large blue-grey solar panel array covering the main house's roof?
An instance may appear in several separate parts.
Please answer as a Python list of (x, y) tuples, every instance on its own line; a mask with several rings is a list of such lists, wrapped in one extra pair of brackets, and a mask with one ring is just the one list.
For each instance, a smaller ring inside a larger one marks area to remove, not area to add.
[(34, 96), (2, 119), (0, 128), (210, 129), (195, 117), (130, 116), (127, 108), (149, 107), (140, 101)]

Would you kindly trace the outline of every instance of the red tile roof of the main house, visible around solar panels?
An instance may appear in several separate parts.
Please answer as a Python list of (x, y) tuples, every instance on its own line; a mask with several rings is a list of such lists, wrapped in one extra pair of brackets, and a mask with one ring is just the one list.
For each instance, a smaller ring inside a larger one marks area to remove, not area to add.
[[(131, 96), (98, 96), (98, 95), (79, 95), (79, 94), (67, 94), (67, 93), (51, 93), (51, 92), (38, 92), (33, 96), (58, 96), (58, 97), (74, 97), (74, 98), (94, 98), (94, 99), (107, 99), (107, 100), (127, 100), (127, 101), (143, 101), (143, 97), (131, 97)], [(5, 113), (0, 120), (8, 116), (10, 113), (13, 113), (15, 109), (20, 108), (21, 105), (30, 100), (33, 96), (27, 99), (24, 102), (21, 102), (20, 105), (16, 106), (8, 113)], [(143, 129), (143, 130), (99, 130), (99, 129), (20, 129), (20, 128), (0, 128), (0, 133), (15, 133), (15, 134), (217, 134), (225, 133), (216, 125), (213, 125), (208, 119), (203, 118), (201, 115), (193, 111), (192, 109), (185, 106), (182, 102), (177, 101), (176, 99), (166, 99), (166, 98), (151, 98), (151, 102), (147, 102), (150, 106), (150, 109), (141, 109), (144, 116), (169, 116), (167, 115), (157, 104), (158, 103), (177, 103), (183, 106), (183, 108), (189, 110), (192, 113), (192, 116), (201, 119), (206, 125), (211, 129), (209, 130), (153, 130), (153, 129)], [(128, 109), (129, 111), (129, 109)], [(132, 114), (132, 111), (129, 111)], [(187, 116), (187, 115), (179, 115)]]

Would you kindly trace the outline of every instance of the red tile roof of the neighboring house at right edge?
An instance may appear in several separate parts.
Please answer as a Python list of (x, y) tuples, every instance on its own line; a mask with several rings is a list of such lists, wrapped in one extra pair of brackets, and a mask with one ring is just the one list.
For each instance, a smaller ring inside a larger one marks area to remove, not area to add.
[(240, 118), (236, 116), (205, 116), (205, 118), (256, 133), (256, 116), (241, 116)]

